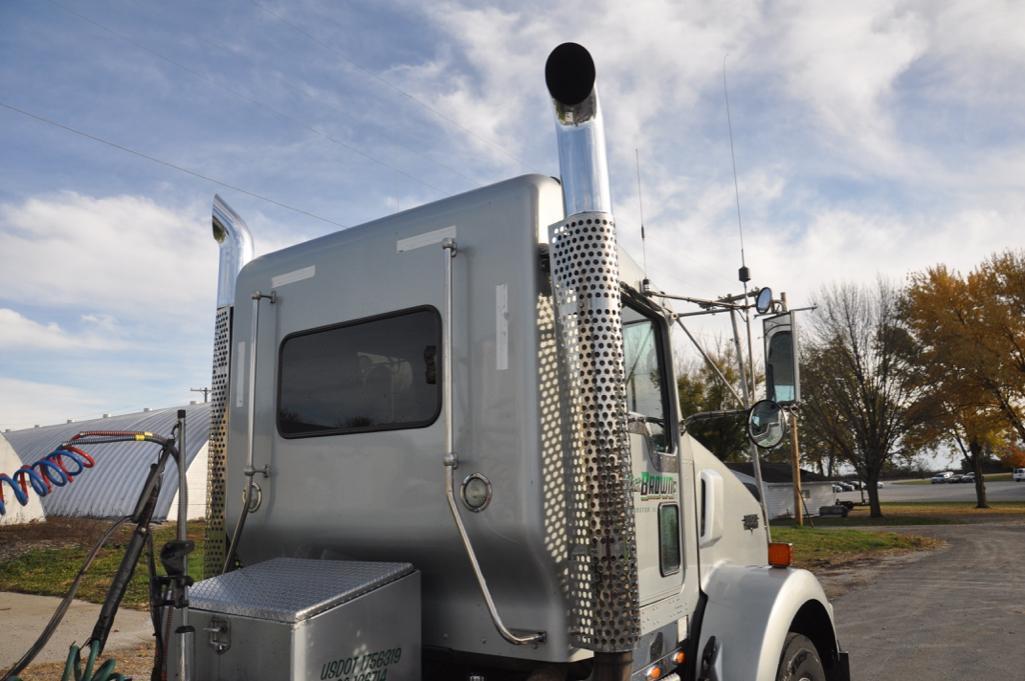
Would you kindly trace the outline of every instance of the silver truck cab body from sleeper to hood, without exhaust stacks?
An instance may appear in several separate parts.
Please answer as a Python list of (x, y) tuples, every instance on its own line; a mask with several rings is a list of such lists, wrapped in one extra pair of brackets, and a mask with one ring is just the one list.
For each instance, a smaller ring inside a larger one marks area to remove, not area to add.
[[(270, 471), (256, 478), (244, 564), (280, 556), (410, 562), (422, 573), (426, 649), (484, 655), (496, 668), (516, 659), (570, 669), (590, 656), (570, 643), (565, 588), (574, 550), (564, 457), (572, 425), (545, 239), (561, 217), (559, 183), (528, 175), (242, 270), (236, 328), (252, 326), (255, 291), (274, 291), (273, 303), (260, 303), (252, 375), (251, 342), (233, 346), (228, 489), (245, 485), (250, 394), (253, 465)], [(543, 631), (539, 645), (515, 646), (495, 633), (441, 491), (446, 238), (459, 248), (451, 320), (457, 473), (486, 481), (488, 495), (476, 513), (464, 506), (463, 520), (506, 624)], [(760, 514), (746, 489), (695, 441), (681, 440), (665, 318), (639, 292), (641, 272), (625, 253), (620, 269), (640, 673), (696, 641), (702, 587), (716, 594), (723, 566), (764, 566), (766, 539), (764, 528), (741, 522)], [(227, 502), (231, 527), (241, 503), (234, 493)]]

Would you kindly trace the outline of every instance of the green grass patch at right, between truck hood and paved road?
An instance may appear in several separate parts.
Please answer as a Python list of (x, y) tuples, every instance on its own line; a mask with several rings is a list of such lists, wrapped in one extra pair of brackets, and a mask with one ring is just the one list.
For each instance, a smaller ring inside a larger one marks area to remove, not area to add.
[(812, 527), (776, 527), (772, 538), (792, 544), (794, 565), (806, 568), (836, 567), (881, 555), (935, 549), (942, 544), (914, 534)]

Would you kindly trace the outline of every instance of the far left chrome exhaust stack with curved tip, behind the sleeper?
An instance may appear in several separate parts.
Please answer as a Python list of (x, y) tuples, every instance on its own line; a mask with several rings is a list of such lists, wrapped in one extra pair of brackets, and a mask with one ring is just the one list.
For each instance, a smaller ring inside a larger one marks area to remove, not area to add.
[(203, 576), (220, 574), (227, 551), (224, 492), (228, 465), (228, 373), (232, 365), (235, 280), (253, 257), (249, 228), (223, 199), (214, 195), (213, 238), (220, 247), (217, 269), (217, 315), (213, 330), (213, 374), (210, 379), (210, 444), (206, 470), (206, 551)]

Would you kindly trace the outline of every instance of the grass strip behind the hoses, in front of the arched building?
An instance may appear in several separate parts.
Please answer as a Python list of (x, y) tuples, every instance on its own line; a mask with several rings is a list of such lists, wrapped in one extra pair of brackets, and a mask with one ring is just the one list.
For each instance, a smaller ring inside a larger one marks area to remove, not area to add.
[[(47, 525), (50, 527), (46, 527)], [(81, 568), (86, 554), (109, 525), (107, 521), (75, 523), (48, 521), (17, 528), (4, 528), (5, 544), (8, 540), (32, 543), (35, 548), (17, 553), (7, 552), (7, 557), (0, 562), (0, 591), (64, 596)], [(65, 535), (54, 532), (55, 528), (59, 529), (61, 526), (69, 529)], [(104, 601), (111, 577), (121, 563), (132, 529), (130, 523), (125, 523), (100, 550), (79, 585), (77, 598), (93, 603)], [(203, 529), (202, 521), (189, 523), (189, 538), (196, 543), (196, 550), (189, 556), (189, 573), (194, 576), (201, 574), (203, 569)], [(8, 530), (16, 531), (8, 534)], [(164, 573), (160, 565), (160, 549), (166, 542), (174, 538), (175, 531), (175, 523), (155, 526), (154, 549), (157, 554), (157, 572), (160, 574)], [(144, 552), (125, 592), (123, 604), (127, 607), (139, 609), (148, 607), (149, 568), (146, 555)]]

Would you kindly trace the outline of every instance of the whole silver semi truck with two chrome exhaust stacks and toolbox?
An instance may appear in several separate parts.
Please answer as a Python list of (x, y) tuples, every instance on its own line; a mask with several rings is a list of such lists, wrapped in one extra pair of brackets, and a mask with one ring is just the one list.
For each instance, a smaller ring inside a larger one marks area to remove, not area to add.
[(561, 179), (251, 262), (215, 199), (206, 578), (172, 677), (850, 678), (816, 578), (770, 565), (758, 500), (684, 431), (590, 55), (545, 77)]

